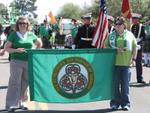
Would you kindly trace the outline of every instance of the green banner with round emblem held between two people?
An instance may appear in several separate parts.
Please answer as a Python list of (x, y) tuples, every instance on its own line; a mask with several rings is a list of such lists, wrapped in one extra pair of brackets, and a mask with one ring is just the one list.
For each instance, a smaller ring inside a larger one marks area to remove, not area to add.
[(113, 97), (115, 50), (28, 50), (30, 98), (77, 103)]

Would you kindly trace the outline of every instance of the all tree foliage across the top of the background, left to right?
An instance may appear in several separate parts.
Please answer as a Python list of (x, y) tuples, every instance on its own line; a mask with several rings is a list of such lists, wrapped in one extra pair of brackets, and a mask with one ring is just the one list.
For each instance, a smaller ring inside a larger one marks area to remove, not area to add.
[[(15, 18), (20, 15), (28, 15), (30, 18), (36, 18), (36, 1), (37, 0), (13, 0), (13, 2), (11, 2), (10, 4), (10, 12), (8, 12), (8, 9), (4, 4), (0, 4), (1, 20), (7, 20), (8, 14), (10, 14), (10, 19), (13, 19), (13, 21), (15, 21)], [(64, 18), (81, 19), (81, 16), (83, 14), (92, 13), (92, 20), (95, 22), (98, 17), (100, 4), (99, 0), (91, 1), (91, 6), (86, 6), (85, 4), (83, 7), (79, 7), (78, 5), (75, 5), (73, 3), (67, 3), (60, 9), (60, 12), (57, 16), (61, 16)], [(106, 0), (106, 5), (109, 15), (112, 15), (114, 17), (121, 15), (122, 0)], [(130, 0), (130, 6), (132, 12), (139, 13), (143, 17), (150, 16), (150, 0)]]

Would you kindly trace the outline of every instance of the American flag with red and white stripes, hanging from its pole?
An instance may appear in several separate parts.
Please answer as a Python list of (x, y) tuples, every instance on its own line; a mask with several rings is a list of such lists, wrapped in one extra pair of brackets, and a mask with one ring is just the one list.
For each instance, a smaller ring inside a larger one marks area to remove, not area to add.
[(97, 48), (104, 47), (104, 41), (108, 36), (108, 19), (107, 19), (107, 7), (105, 0), (100, 0), (100, 12), (94, 32), (92, 45)]

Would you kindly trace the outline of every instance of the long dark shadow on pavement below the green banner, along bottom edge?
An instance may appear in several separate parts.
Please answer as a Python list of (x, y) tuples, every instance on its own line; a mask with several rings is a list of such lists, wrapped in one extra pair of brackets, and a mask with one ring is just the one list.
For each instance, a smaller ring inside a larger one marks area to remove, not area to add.
[[(28, 111), (15, 111), (14, 113), (109, 113), (113, 112), (111, 109), (101, 110), (86, 110), (86, 111), (56, 111), (56, 110), (28, 110)], [(0, 113), (8, 113), (6, 110), (0, 110)]]

